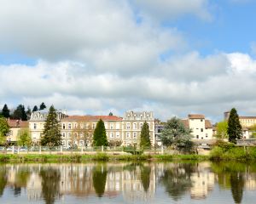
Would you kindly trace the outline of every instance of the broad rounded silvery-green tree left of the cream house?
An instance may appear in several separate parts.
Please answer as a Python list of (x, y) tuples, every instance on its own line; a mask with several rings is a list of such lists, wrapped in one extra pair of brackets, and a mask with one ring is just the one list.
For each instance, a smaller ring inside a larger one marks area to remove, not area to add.
[(190, 133), (191, 130), (185, 127), (180, 119), (172, 117), (171, 120), (166, 122), (160, 134), (160, 139), (165, 146), (174, 145), (177, 149), (190, 149), (193, 146)]

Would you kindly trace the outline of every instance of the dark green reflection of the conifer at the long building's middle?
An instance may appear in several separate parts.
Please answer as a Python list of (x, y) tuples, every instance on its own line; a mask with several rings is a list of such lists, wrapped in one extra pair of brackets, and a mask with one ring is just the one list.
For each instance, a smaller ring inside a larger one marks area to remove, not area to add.
[(107, 167), (104, 165), (98, 165), (93, 168), (92, 182), (96, 191), (96, 195), (102, 197), (105, 191), (105, 185), (107, 181)]

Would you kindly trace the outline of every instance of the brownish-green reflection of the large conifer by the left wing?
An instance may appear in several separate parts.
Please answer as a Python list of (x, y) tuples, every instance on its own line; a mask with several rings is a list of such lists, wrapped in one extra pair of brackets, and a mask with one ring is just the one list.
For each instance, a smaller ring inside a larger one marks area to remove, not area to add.
[(42, 178), (42, 193), (46, 204), (55, 202), (60, 195), (61, 173), (59, 170), (49, 167), (40, 171)]

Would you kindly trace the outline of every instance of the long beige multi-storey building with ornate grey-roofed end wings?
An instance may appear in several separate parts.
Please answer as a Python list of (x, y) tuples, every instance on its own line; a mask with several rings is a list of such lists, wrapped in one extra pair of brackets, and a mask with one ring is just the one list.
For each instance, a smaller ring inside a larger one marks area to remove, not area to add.
[[(38, 142), (44, 131), (47, 111), (35, 111), (29, 121), (32, 140)], [(102, 119), (105, 124), (108, 142), (125, 146), (138, 144), (143, 122), (148, 122), (151, 144), (154, 145), (153, 112), (125, 112), (125, 117), (119, 116), (67, 116), (58, 111), (61, 123), (62, 146), (91, 146), (96, 123)]]

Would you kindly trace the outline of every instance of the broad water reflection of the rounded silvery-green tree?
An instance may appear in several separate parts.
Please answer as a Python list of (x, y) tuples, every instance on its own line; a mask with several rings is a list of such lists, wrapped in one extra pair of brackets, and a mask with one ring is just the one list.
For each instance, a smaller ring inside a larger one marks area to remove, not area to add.
[(174, 164), (172, 168), (166, 168), (160, 183), (166, 187), (166, 192), (177, 201), (192, 186), (191, 173), (193, 164)]

